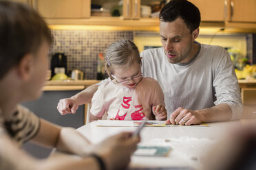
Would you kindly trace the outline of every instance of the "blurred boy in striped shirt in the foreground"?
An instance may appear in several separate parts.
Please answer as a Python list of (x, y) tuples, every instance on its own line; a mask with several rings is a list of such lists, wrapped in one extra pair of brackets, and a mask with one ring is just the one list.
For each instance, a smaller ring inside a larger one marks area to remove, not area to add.
[[(37, 99), (45, 82), (51, 36), (32, 8), (0, 1), (0, 169), (123, 169), (140, 141), (123, 132), (92, 145), (70, 127), (39, 119), (19, 105)], [(25, 141), (77, 154), (36, 160)]]

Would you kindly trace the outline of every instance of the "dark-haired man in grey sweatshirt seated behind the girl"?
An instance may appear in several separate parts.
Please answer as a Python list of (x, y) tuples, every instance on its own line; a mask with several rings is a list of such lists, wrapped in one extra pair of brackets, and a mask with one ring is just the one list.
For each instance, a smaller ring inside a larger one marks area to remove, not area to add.
[[(142, 73), (158, 80), (164, 91), (166, 123), (193, 125), (239, 119), (242, 100), (228, 53), (222, 47), (196, 42), (200, 11), (186, 0), (173, 0), (160, 12), (162, 48), (141, 53)], [(90, 101), (97, 86), (69, 99), (61, 99), (58, 111), (74, 113)]]

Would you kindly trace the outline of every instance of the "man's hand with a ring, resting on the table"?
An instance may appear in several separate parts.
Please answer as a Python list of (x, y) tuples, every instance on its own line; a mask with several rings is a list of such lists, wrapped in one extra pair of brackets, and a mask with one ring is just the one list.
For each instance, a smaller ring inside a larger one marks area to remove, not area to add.
[(165, 124), (198, 125), (202, 123), (199, 116), (196, 110), (180, 107), (171, 113), (170, 119), (165, 121)]

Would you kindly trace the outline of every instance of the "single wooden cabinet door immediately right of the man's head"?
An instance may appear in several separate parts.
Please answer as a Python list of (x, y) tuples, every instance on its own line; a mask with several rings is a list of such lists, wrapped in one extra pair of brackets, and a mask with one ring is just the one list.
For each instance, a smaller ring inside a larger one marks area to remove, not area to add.
[(202, 21), (225, 21), (227, 14), (226, 0), (189, 0), (201, 13)]

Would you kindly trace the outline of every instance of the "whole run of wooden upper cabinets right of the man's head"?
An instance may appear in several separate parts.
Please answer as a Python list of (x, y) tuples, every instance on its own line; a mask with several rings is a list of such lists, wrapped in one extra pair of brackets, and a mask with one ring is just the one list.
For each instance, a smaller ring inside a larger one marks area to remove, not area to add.
[(255, 32), (255, 0), (189, 0), (201, 12), (200, 24), (210, 27), (243, 29)]

